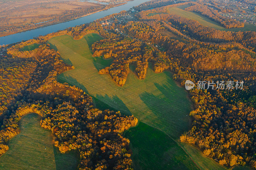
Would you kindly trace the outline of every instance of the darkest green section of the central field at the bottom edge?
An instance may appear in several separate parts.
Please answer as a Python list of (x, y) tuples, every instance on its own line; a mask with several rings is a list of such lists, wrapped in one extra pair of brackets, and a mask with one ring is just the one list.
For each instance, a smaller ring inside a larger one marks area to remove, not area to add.
[(128, 129), (134, 169), (196, 169), (178, 144), (164, 132), (143, 122)]

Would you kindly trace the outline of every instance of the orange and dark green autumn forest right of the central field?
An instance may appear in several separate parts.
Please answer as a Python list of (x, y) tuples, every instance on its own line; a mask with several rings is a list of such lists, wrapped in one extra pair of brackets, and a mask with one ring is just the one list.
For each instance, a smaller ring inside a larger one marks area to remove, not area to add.
[[(244, 81), (243, 90), (189, 91), (195, 108), (190, 112), (194, 122), (180, 141), (197, 145), (220, 165), (255, 168), (255, 32), (219, 31), (169, 14), (169, 7), (141, 11), (137, 15), (141, 21), (118, 27), (126, 36), (113, 35), (95, 43), (94, 56), (114, 59), (99, 73), (109, 73), (122, 86), (129, 64), (136, 65), (138, 78), (143, 79), (148, 62), (152, 62), (156, 73), (170, 70), (181, 85), (185, 80)], [(149, 17), (153, 12), (158, 14)], [(174, 33), (180, 40), (162, 35), (163, 31)]]

